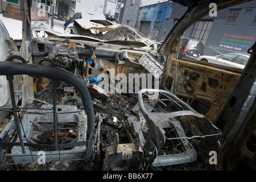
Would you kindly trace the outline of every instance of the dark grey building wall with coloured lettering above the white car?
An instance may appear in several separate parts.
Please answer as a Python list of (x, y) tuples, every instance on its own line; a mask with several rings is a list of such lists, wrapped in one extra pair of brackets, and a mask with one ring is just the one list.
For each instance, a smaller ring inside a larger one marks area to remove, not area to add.
[[(247, 53), (256, 40), (256, 1), (243, 3), (218, 11), (217, 16), (206, 16), (202, 21), (212, 26), (205, 42), (205, 53), (210, 56), (222, 53)], [(196, 26), (194, 26), (196, 27)], [(194, 28), (195, 29), (195, 28)], [(199, 27), (204, 30), (204, 27)], [(200, 36), (191, 34), (191, 37)]]

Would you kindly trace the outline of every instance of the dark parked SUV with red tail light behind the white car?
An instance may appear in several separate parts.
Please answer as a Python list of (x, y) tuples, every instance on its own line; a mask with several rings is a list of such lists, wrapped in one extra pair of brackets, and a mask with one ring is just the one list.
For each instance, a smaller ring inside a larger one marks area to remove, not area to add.
[(198, 40), (183, 38), (181, 47), (179, 48), (179, 57), (189, 57), (190, 59), (197, 59), (205, 53), (205, 46)]

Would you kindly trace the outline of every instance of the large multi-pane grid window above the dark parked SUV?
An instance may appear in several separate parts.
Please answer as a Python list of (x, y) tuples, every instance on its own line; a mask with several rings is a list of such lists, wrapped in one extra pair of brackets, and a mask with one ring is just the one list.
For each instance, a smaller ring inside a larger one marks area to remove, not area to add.
[(211, 26), (213, 26), (213, 22), (211, 21), (198, 21), (195, 22), (195, 26), (193, 32), (191, 34), (191, 38), (195, 40), (201, 41), (205, 44), (208, 35), (211, 30)]

